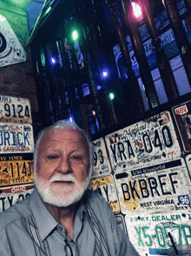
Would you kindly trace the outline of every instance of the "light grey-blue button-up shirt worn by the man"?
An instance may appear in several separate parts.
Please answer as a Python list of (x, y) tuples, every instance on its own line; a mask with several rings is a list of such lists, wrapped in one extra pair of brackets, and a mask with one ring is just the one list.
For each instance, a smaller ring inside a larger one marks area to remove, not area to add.
[[(105, 230), (109, 256), (139, 255), (125, 232), (117, 226), (115, 215), (105, 199), (90, 191), (84, 196), (89, 197), (90, 205)], [(27, 219), (31, 219), (32, 225), (28, 225)], [(31, 239), (30, 233), (35, 239)], [(0, 213), (0, 256), (71, 256), (71, 250), (74, 256), (98, 256), (95, 253), (95, 234), (89, 225), (83, 199), (77, 206), (72, 240), (50, 214), (36, 189), (23, 202)]]

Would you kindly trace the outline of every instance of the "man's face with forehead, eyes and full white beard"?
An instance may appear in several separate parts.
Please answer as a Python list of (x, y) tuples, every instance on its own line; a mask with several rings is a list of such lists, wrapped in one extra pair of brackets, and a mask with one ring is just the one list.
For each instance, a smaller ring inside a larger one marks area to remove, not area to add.
[(89, 146), (75, 128), (51, 128), (40, 141), (35, 182), (43, 201), (72, 205), (82, 198), (90, 181)]

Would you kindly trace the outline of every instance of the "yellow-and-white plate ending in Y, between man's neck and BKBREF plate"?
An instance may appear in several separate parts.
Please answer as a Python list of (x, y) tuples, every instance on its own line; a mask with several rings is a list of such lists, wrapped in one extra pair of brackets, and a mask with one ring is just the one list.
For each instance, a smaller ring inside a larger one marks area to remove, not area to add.
[(109, 203), (113, 212), (120, 211), (112, 175), (92, 179), (89, 184), (89, 189), (102, 195)]

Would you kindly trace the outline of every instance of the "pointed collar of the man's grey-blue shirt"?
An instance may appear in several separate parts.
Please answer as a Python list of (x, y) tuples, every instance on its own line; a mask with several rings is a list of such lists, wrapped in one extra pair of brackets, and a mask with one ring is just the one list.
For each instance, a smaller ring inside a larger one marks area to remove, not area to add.
[[(36, 187), (30, 198), (30, 209), (36, 220), (36, 226), (38, 228), (40, 237), (43, 241), (44, 239), (46, 239), (49, 233), (52, 232), (52, 230), (55, 229), (56, 226), (59, 224), (56, 221), (56, 219), (52, 216), (52, 214), (49, 212), (49, 210), (46, 208), (46, 206), (43, 204), (43, 200), (37, 192)], [(84, 200), (82, 198), (79, 201), (79, 204), (77, 205), (76, 209), (76, 216), (78, 216), (81, 221), (83, 218), (83, 212), (85, 212), (88, 215), (86, 206), (84, 204)]]

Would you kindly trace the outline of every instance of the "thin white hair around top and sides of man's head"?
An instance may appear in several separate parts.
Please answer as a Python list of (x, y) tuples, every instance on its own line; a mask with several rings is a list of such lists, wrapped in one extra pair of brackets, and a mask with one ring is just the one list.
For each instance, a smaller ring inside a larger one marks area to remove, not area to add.
[(37, 161), (37, 157), (38, 157), (38, 149), (39, 149), (39, 145), (40, 145), (41, 139), (43, 138), (43, 135), (47, 131), (49, 131), (49, 129), (51, 129), (51, 128), (64, 129), (65, 127), (74, 128), (74, 129), (77, 129), (78, 131), (82, 132), (82, 135), (85, 138), (85, 140), (87, 141), (88, 146), (89, 146), (89, 163), (90, 163), (90, 170), (89, 170), (89, 172), (92, 173), (92, 170), (93, 170), (93, 154), (94, 154), (94, 152), (93, 152), (93, 145), (91, 143), (89, 135), (85, 131), (83, 131), (78, 125), (76, 125), (76, 123), (69, 122), (68, 120), (59, 120), (59, 121), (56, 122), (56, 124), (50, 125), (49, 127), (46, 127), (42, 131), (39, 132), (39, 134), (36, 137), (36, 144), (35, 144), (35, 149), (34, 149), (34, 153), (33, 153), (35, 168), (36, 168), (36, 161)]

